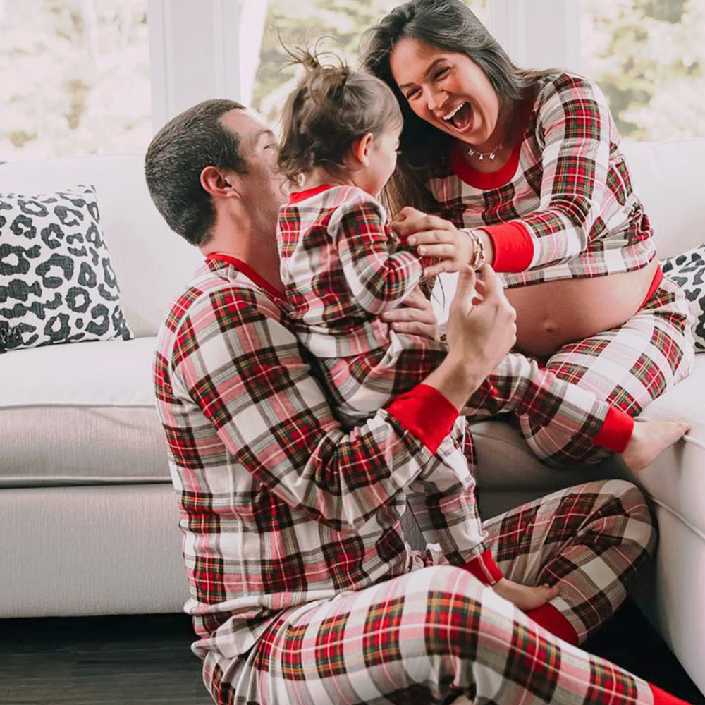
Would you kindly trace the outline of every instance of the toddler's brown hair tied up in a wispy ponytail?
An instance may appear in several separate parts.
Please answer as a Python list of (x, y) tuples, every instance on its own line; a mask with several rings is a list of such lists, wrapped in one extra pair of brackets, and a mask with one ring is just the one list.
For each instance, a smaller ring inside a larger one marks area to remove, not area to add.
[(278, 166), (290, 180), (315, 166), (340, 171), (355, 140), (402, 124), (396, 97), (378, 78), (350, 69), (338, 56), (323, 64), (315, 51), (288, 53), (305, 68), (281, 118)]

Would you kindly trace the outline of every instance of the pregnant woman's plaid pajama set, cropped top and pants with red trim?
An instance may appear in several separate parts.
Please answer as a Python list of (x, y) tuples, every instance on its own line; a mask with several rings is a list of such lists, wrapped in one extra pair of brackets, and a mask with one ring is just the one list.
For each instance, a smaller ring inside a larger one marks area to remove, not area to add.
[[(494, 268), (508, 288), (635, 271), (656, 257), (656, 249), (619, 145), (600, 88), (577, 75), (555, 74), (540, 85), (529, 127), (500, 171), (475, 171), (454, 145), (427, 185), (440, 216), (488, 233)], [(659, 269), (631, 319), (563, 345), (545, 367), (637, 416), (689, 374), (692, 323), (685, 294)], [(584, 460), (594, 453), (583, 443), (551, 452), (546, 429), (537, 429), (528, 414), (519, 419), (525, 436), (550, 460)]]

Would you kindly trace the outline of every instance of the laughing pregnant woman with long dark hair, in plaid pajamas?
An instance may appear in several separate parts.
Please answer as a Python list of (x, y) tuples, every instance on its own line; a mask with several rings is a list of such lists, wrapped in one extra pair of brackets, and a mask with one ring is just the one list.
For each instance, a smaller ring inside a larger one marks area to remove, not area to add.
[(517, 68), (460, 0), (395, 8), (370, 30), (363, 65), (405, 120), (386, 191), (396, 230), (427, 257), (469, 238), (470, 264), (503, 274), (518, 350), (631, 416), (687, 376), (685, 295), (658, 267), (594, 82)]

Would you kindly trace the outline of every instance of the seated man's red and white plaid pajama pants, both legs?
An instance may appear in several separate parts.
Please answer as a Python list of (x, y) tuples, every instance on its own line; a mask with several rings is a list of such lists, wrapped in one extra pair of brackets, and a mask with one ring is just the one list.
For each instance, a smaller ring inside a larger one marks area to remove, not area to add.
[[(641, 492), (590, 482), (484, 524), (505, 575), (558, 582), (553, 605), (580, 639), (625, 597), (654, 545)], [(290, 608), (239, 658), (214, 651), (204, 682), (219, 704), (650, 705), (649, 686), (551, 635), (470, 573), (420, 568)]]

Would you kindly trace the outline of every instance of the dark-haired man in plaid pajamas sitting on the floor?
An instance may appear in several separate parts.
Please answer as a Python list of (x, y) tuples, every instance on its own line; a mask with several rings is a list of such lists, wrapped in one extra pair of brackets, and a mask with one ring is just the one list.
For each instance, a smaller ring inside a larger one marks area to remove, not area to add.
[[(154, 379), (182, 513), (185, 610), (214, 700), (666, 697), (539, 626), (577, 643), (623, 599), (653, 545), (635, 486), (593, 482), (484, 523), (489, 565), (496, 560), (508, 583), (554, 584), (534, 619), (469, 565), (433, 565), (410, 549), (400, 517), (412, 488), (474, 510), (468, 485), (443, 476), (438, 453), (513, 345), (513, 309), (491, 269), (477, 282), (463, 272), (446, 360), (360, 427), (342, 429), (286, 319), (276, 149), (243, 106), (214, 100), (173, 118), (145, 159), (155, 204), (207, 259), (162, 326)], [(471, 305), (474, 286), (482, 300)], [(418, 300), (392, 320), (434, 333)]]

